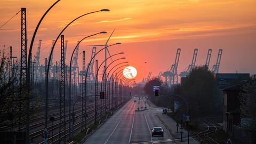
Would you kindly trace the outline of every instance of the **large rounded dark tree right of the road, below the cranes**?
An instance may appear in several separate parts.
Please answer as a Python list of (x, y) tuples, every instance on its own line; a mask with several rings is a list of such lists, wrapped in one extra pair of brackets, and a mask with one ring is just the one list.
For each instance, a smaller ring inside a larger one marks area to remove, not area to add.
[(214, 114), (220, 105), (217, 82), (205, 66), (195, 67), (189, 73), (182, 90), (189, 103), (190, 115)]

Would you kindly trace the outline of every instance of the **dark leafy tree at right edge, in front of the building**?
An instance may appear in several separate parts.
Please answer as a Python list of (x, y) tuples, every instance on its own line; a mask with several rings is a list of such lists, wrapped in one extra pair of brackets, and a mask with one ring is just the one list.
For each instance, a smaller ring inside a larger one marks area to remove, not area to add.
[(243, 86), (239, 94), (241, 118), (251, 118), (250, 125), (242, 126), (243, 132), (251, 135), (256, 130), (256, 80), (250, 80)]

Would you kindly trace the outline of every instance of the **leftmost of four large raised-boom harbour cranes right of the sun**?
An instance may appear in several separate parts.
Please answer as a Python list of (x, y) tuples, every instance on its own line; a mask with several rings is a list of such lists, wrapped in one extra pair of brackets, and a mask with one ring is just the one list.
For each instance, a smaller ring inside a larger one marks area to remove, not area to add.
[(180, 51), (181, 49), (177, 49), (176, 57), (174, 64), (172, 64), (171, 69), (164, 71), (163, 76), (165, 77), (165, 85), (166, 86), (172, 86), (173, 84), (178, 84), (178, 74), (177, 74), (177, 68), (179, 65), (179, 59), (180, 59)]

